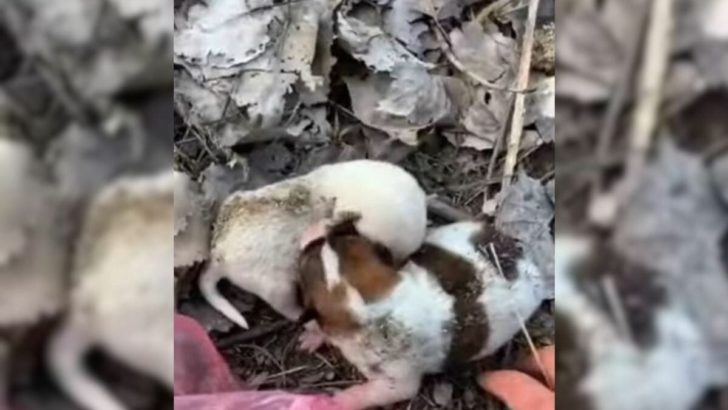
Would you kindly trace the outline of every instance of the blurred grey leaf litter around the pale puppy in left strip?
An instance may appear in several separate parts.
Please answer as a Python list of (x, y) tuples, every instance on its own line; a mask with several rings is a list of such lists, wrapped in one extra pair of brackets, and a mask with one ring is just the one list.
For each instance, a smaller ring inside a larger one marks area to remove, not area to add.
[[(90, 198), (172, 166), (172, 19), (156, 0), (0, 3), (2, 408), (80, 409), (45, 351), (72, 309), (70, 255)], [(89, 356), (130, 408), (172, 408), (128, 363)]]

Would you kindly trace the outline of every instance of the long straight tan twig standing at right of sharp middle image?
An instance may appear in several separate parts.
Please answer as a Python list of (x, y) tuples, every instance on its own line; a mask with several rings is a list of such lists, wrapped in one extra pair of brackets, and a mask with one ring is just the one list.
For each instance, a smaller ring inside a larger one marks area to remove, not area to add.
[[(528, 87), (528, 78), (531, 70), (531, 52), (533, 50), (533, 33), (536, 29), (536, 14), (538, 12), (539, 0), (530, 0), (528, 4), (528, 19), (526, 31), (523, 35), (521, 46), (521, 60), (518, 66), (518, 78), (516, 88), (523, 90)], [(513, 178), (513, 171), (516, 169), (518, 149), (521, 145), (523, 134), (523, 115), (525, 111), (526, 96), (516, 94), (513, 103), (513, 117), (511, 118), (511, 132), (508, 138), (508, 149), (506, 151), (506, 162), (503, 169), (503, 184), (501, 189), (508, 187)]]

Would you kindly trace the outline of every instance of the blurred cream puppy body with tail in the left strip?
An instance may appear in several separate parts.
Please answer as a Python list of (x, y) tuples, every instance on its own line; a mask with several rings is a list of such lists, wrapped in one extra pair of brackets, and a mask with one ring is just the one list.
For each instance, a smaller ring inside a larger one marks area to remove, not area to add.
[(172, 389), (174, 177), (124, 178), (84, 217), (70, 311), (48, 347), (56, 382), (85, 409), (123, 410), (84, 367), (93, 347)]

